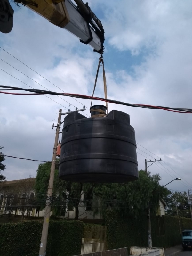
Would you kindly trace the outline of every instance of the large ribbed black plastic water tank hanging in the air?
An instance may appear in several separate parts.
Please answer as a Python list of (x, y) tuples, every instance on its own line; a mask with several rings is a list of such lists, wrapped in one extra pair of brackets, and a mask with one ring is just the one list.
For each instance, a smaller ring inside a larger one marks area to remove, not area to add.
[(73, 112), (64, 119), (59, 177), (82, 183), (136, 180), (135, 132), (129, 115), (112, 110), (106, 117), (95, 117), (106, 107), (97, 105), (91, 109), (94, 117)]

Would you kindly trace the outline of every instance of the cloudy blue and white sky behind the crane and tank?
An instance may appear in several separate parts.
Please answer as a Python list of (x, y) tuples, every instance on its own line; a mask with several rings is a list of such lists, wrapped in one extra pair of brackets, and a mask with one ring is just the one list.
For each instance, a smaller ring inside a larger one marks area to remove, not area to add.
[[(89, 5), (105, 30), (108, 98), (192, 108), (192, 1), (90, 0)], [(13, 29), (0, 34), (0, 47), (15, 58), (0, 48), (0, 84), (92, 95), (100, 55), (27, 7), (12, 6)], [(102, 72), (95, 96), (104, 96)], [(0, 146), (4, 146), (5, 155), (51, 160), (55, 139), (52, 123), (56, 125), (59, 109), (73, 111), (85, 105), (82, 114), (89, 116), (89, 100), (48, 97), (0, 95)], [(145, 168), (145, 159), (161, 158), (148, 168), (151, 174), (160, 174), (161, 185), (178, 177), (182, 180), (167, 188), (191, 189), (192, 116), (108, 104), (108, 111), (112, 109), (130, 115), (138, 169)], [(4, 163), (8, 180), (35, 177), (39, 164), (8, 157)]]

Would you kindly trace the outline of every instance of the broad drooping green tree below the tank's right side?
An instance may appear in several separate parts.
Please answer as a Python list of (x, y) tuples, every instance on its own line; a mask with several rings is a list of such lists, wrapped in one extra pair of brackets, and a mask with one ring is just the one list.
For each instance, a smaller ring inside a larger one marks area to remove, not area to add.
[[(167, 195), (168, 191), (159, 185), (159, 174), (148, 176), (145, 171), (139, 171), (139, 179), (127, 183), (96, 184), (93, 193), (100, 198), (98, 207), (94, 205), (94, 212), (104, 215), (106, 208), (113, 208), (123, 216), (138, 216), (147, 209), (148, 201), (151, 203), (151, 212), (156, 213), (159, 199)], [(95, 200), (93, 200), (94, 202)]]

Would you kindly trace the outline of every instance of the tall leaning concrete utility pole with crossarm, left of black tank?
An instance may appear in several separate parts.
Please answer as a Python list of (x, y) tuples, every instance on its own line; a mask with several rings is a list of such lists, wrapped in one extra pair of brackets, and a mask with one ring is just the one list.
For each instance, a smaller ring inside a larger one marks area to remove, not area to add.
[[(61, 116), (62, 115), (67, 115), (72, 112), (79, 112), (79, 111), (84, 111), (85, 106), (83, 109), (78, 109), (76, 108), (75, 111), (70, 111), (66, 113), (62, 113), (62, 109), (59, 110), (59, 116), (58, 116), (58, 121), (56, 125), (56, 134), (55, 134), (55, 143), (54, 143), (54, 148), (53, 148), (53, 156), (52, 156), (52, 164), (51, 164), (51, 172), (50, 172), (50, 178), (49, 178), (49, 186), (48, 186), (48, 191), (47, 191), (47, 199), (46, 199), (46, 205), (45, 205), (45, 215), (44, 215), (44, 221), (43, 221), (43, 230), (42, 230), (42, 235), (41, 235), (41, 244), (40, 244), (40, 249), (39, 249), (39, 256), (45, 256), (46, 255), (46, 248), (47, 248), (47, 237), (48, 237), (48, 229), (49, 229), (49, 219), (50, 219), (50, 212), (51, 212), (51, 197), (53, 193), (53, 182), (54, 182), (54, 174), (55, 174), (55, 164), (56, 164), (56, 158), (57, 158), (57, 145), (58, 145), (58, 140), (59, 140), (59, 134), (60, 134), (60, 125), (61, 125)], [(54, 124), (52, 128), (54, 127)]]

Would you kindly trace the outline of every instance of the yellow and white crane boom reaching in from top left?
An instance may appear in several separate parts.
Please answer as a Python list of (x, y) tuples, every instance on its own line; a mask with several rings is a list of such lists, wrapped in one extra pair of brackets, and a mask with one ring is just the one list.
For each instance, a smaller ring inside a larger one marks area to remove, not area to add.
[[(101, 21), (91, 11), (88, 3), (82, 0), (15, 0), (32, 11), (43, 16), (60, 28), (68, 30), (80, 39), (80, 42), (89, 44), (95, 52), (103, 54), (105, 40)], [(0, 32), (9, 33), (13, 27), (13, 9), (9, 0), (0, 0)]]

